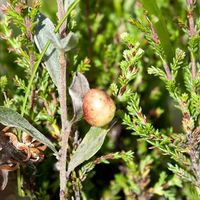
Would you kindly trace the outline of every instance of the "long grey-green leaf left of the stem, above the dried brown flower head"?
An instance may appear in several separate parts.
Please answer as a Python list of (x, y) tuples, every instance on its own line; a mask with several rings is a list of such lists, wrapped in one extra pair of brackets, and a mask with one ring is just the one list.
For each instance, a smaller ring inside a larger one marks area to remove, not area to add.
[(5, 126), (15, 127), (29, 133), (33, 138), (43, 144), (46, 144), (52, 151), (57, 154), (57, 151), (52, 142), (14, 110), (0, 106), (0, 123)]

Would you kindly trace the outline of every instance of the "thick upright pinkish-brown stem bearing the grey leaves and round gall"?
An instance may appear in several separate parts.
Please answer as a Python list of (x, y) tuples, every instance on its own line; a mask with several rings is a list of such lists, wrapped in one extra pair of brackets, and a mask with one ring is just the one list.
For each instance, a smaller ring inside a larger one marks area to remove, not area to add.
[[(75, 1), (72, 6), (68, 9), (65, 16), (68, 16), (69, 13), (73, 10), (79, 0)], [(58, 4), (58, 18), (64, 15), (64, 8), (62, 0), (57, 0)], [(61, 22), (63, 25), (55, 31), (59, 30), (60, 37), (64, 37), (65, 29), (66, 29), (66, 18), (65, 16), (62, 18)], [(60, 108), (61, 108), (61, 122), (62, 122), (62, 141), (61, 141), (61, 149), (60, 149), (60, 200), (65, 200), (65, 192), (66, 192), (66, 159), (67, 159), (67, 146), (68, 146), (68, 138), (71, 132), (72, 124), (69, 123), (68, 127), (66, 127), (67, 122), (67, 94), (66, 94), (66, 58), (65, 58), (65, 51), (60, 51), (60, 71), (61, 71), (61, 82), (58, 88), (59, 91), (59, 101), (60, 101)]]

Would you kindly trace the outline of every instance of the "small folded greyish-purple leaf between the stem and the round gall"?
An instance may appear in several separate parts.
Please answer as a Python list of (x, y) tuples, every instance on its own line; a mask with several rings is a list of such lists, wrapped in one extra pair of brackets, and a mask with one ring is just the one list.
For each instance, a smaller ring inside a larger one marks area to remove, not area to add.
[(89, 89), (90, 86), (86, 77), (79, 72), (75, 73), (74, 79), (69, 87), (69, 94), (74, 110), (73, 122), (80, 120), (83, 116), (83, 96)]

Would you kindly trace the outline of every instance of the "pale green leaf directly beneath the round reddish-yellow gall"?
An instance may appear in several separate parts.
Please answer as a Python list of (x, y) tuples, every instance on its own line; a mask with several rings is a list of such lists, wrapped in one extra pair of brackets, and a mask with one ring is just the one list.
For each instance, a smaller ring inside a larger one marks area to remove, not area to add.
[(69, 162), (67, 175), (99, 151), (108, 131), (98, 127), (90, 128)]

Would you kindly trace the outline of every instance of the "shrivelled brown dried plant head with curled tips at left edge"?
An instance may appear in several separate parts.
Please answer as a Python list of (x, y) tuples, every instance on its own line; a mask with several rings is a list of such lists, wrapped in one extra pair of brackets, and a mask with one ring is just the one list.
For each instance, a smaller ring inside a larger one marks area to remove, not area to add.
[[(46, 145), (34, 141), (28, 137), (27, 133), (22, 134), (22, 142), (18, 141), (17, 136), (10, 127), (5, 127), (0, 131), (0, 174), (3, 178), (1, 189), (4, 190), (8, 183), (8, 172), (18, 169), (20, 164), (32, 164), (41, 162), (44, 159), (43, 151)], [(9, 131), (8, 131), (9, 130)]]

